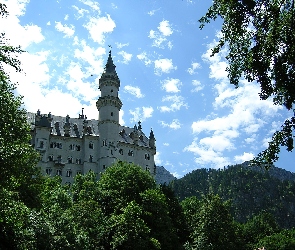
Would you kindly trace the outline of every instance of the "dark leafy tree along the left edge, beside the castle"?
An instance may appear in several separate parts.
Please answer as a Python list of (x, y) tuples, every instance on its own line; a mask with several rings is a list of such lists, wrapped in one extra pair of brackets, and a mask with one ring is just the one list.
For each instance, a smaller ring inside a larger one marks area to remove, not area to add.
[[(6, 6), (0, 4), (0, 16), (6, 16)], [(10, 82), (4, 65), (21, 71), (17, 54), (20, 48), (7, 45), (0, 35), (0, 186), (15, 190), (26, 204), (36, 205), (40, 178), (37, 178), (38, 154), (29, 144), (30, 127), (26, 111), (21, 108), (22, 97), (15, 95), (16, 85)], [(35, 178), (32, 178), (34, 176)]]

